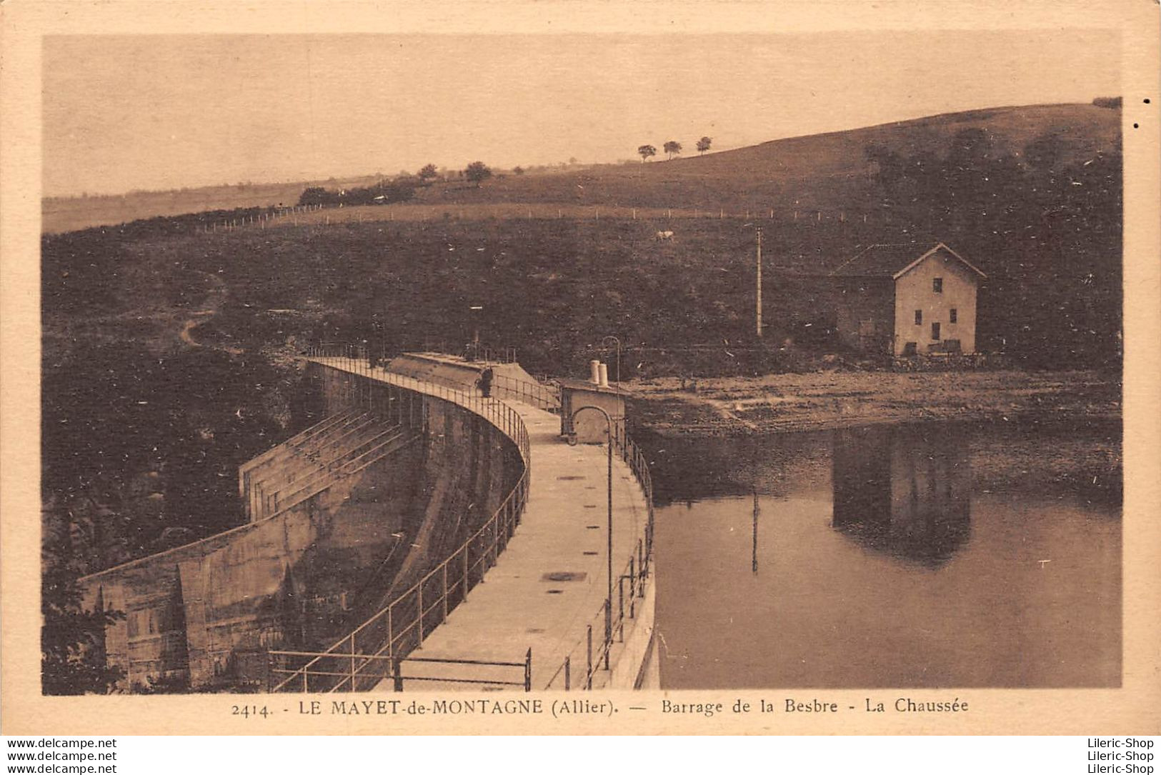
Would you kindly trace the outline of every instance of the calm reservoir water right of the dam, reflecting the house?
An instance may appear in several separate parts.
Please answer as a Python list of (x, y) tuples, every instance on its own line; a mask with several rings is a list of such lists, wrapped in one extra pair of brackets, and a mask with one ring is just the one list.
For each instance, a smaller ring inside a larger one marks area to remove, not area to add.
[(647, 446), (663, 688), (1120, 685), (1119, 422)]

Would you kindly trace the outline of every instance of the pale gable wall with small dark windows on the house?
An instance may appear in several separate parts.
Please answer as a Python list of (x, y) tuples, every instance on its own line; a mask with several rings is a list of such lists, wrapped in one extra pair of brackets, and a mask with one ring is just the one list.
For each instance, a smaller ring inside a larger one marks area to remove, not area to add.
[[(935, 292), (933, 281), (943, 278), (943, 292)], [(947, 340), (958, 339), (964, 353), (975, 352), (975, 297), (979, 275), (944, 249), (895, 281), (895, 345), (902, 355), (907, 342), (920, 353), (935, 352)], [(956, 310), (956, 323), (951, 311)], [(921, 310), (923, 323), (915, 324)], [(931, 324), (939, 324), (939, 341), (932, 338)]]

